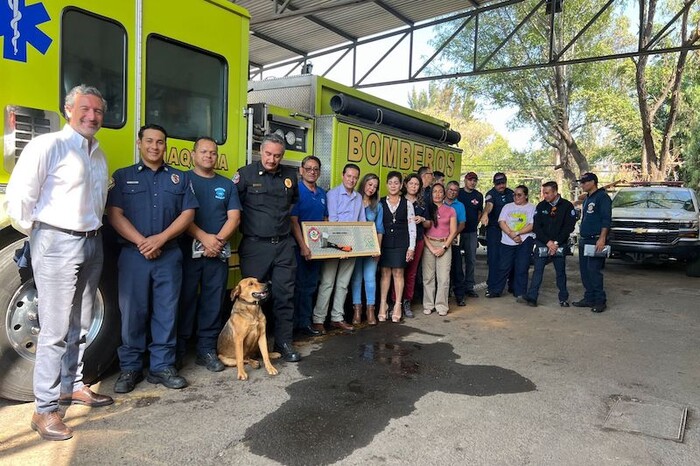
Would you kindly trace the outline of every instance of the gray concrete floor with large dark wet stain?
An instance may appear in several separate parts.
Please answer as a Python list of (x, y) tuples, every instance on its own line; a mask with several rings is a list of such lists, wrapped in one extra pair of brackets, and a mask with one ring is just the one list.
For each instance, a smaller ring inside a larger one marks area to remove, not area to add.
[[(115, 404), (71, 407), (65, 442), (31, 431), (33, 404), (0, 401), (0, 463), (700, 464), (700, 279), (615, 261), (605, 273), (603, 314), (559, 307), (550, 266), (537, 308), (482, 290), (446, 317), (299, 342), (305, 358), (275, 362), (275, 377), (189, 361), (184, 390), (144, 381), (116, 396), (112, 374), (97, 390)], [(618, 399), (689, 408), (683, 442), (605, 429)]]

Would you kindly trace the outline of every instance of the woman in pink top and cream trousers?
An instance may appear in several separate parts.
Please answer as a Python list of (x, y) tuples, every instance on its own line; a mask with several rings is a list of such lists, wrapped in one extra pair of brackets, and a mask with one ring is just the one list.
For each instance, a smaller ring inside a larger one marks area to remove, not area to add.
[(434, 184), (431, 195), (433, 202), (428, 204), (428, 217), (433, 224), (425, 230), (423, 249), (423, 314), (437, 311), (444, 316), (449, 309), (451, 245), (457, 235), (457, 214), (452, 207), (443, 204), (443, 185)]

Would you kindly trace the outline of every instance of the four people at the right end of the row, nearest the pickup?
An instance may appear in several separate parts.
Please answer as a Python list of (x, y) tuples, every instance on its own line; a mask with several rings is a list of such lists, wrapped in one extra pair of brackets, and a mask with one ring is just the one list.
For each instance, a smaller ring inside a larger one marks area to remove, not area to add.
[[(583, 299), (569, 303), (566, 284), (566, 256), (569, 237), (579, 218), (573, 203), (559, 194), (556, 181), (542, 185), (542, 201), (529, 202), (527, 186), (507, 187), (504, 173), (493, 177), (493, 188), (486, 193), (487, 298), (498, 298), (506, 290), (516, 301), (536, 307), (544, 268), (554, 264), (561, 307), (590, 307), (600, 313), (607, 309), (603, 287), (604, 248), (612, 217), (612, 202), (598, 177), (585, 173), (577, 180), (585, 193), (581, 207), (579, 267), (585, 288)], [(588, 248), (586, 246), (589, 246)], [(528, 271), (534, 270), (528, 284)]]

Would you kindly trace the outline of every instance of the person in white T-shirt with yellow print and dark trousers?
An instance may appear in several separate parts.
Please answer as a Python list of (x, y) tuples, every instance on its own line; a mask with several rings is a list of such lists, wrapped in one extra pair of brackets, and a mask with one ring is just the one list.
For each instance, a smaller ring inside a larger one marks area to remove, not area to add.
[(513, 294), (516, 299), (523, 300), (527, 292), (527, 271), (535, 240), (532, 233), (535, 206), (528, 202), (528, 189), (524, 185), (515, 188), (513, 199), (513, 202), (503, 206), (498, 216), (498, 225), (501, 227), (500, 264), (493, 288), (489, 288), (488, 293), (492, 298), (501, 296), (512, 272)]

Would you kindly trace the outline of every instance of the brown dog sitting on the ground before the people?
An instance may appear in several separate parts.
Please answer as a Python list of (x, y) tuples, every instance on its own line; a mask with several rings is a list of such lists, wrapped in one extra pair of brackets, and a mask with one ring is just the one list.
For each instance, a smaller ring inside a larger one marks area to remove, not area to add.
[(255, 278), (244, 278), (231, 292), (233, 311), (219, 335), (217, 351), (221, 362), (238, 368), (238, 380), (248, 380), (245, 363), (254, 369), (260, 367), (256, 359), (251, 359), (256, 343), (267, 373), (277, 374), (277, 369), (270, 362), (270, 354), (267, 352), (266, 320), (259, 304), (267, 296), (267, 286)]

